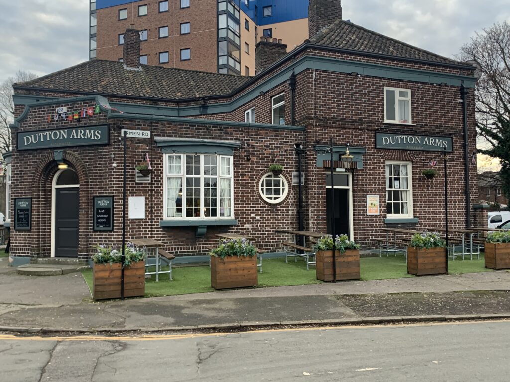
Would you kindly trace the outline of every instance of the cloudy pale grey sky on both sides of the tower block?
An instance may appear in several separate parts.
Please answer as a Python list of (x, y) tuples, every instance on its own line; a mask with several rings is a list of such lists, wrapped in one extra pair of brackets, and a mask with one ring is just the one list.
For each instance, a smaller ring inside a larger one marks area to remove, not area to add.
[[(214, 1), (214, 0), (210, 0)], [(0, 0), (0, 82), (88, 59), (89, 0)], [(343, 18), (452, 57), (475, 31), (510, 21), (510, 0), (343, 0)]]

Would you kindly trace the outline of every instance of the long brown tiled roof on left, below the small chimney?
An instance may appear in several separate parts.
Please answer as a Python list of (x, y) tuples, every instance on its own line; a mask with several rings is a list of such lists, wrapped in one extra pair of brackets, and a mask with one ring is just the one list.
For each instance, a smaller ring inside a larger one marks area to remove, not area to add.
[(152, 65), (141, 65), (141, 68), (125, 69), (121, 62), (91, 60), (14, 87), (177, 100), (230, 94), (250, 79)]

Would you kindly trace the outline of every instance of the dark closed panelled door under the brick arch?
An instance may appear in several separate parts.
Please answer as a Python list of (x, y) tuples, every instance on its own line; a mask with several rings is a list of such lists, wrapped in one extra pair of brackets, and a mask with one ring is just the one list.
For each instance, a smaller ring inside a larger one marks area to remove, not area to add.
[(78, 257), (80, 188), (55, 189), (55, 257)]

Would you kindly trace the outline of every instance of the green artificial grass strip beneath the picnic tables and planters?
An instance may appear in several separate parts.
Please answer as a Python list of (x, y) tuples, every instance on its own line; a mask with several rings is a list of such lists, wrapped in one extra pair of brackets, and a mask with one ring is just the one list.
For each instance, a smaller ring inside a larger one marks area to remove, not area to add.
[[(303, 259), (267, 258), (263, 261), (263, 272), (259, 273), (259, 288), (285, 285), (318, 284), (322, 281), (315, 276), (315, 266), (306, 269)], [(362, 257), (360, 259), (361, 280), (397, 279), (415, 277), (407, 274), (405, 257), (383, 256)], [(457, 258), (449, 261), (450, 274), (491, 271), (484, 267), (483, 255), (479, 260), (464, 260)], [(83, 277), (92, 290), (92, 269), (84, 270)], [(160, 275), (160, 281), (152, 275), (145, 281), (145, 297), (173, 296), (179, 294), (193, 294), (213, 292), (211, 288), (211, 270), (209, 266), (173, 267), (173, 280), (168, 275)]]

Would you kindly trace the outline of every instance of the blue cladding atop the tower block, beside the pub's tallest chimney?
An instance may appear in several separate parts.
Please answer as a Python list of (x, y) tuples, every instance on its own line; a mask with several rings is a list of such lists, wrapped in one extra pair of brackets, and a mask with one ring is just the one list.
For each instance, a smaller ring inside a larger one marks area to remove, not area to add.
[[(277, 22), (285, 22), (308, 18), (308, 0), (250, 0), (249, 8), (244, 5), (244, 0), (240, 1), (241, 10), (255, 21), (255, 6), (258, 7), (259, 25), (275, 24)], [(264, 17), (263, 8), (272, 6), (272, 16)]]

